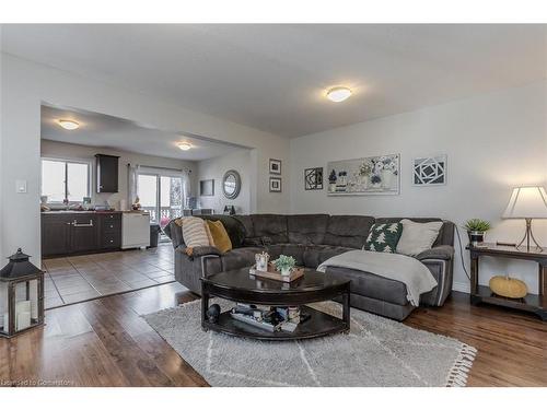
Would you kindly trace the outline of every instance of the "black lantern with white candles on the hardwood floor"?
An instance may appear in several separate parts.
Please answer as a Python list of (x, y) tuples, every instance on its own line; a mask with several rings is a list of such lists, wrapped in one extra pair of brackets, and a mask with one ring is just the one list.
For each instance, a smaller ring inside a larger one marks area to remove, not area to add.
[(0, 336), (44, 325), (44, 272), (18, 249), (0, 270)]

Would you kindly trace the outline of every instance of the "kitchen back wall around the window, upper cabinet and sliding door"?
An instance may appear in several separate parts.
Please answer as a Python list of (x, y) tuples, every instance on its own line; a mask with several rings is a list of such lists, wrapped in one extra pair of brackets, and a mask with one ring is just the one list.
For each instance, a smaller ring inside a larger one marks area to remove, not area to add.
[[(161, 156), (143, 155), (132, 152), (124, 152), (105, 148), (70, 144), (66, 142), (42, 140), (42, 156), (44, 157), (62, 157), (72, 160), (86, 160), (90, 161), (92, 166), (92, 184), (91, 194), (94, 203), (102, 204), (104, 201), (113, 207), (118, 207), (120, 199), (128, 197), (128, 167), (127, 164), (139, 164), (144, 166), (159, 166), (174, 169), (190, 169), (190, 195), (195, 195), (195, 175), (197, 163), (191, 161), (182, 161), (175, 159), (165, 159)], [(118, 162), (118, 192), (116, 194), (96, 194), (96, 169), (95, 169), (95, 154), (107, 154), (119, 156)], [(129, 203), (128, 203), (129, 204)]]

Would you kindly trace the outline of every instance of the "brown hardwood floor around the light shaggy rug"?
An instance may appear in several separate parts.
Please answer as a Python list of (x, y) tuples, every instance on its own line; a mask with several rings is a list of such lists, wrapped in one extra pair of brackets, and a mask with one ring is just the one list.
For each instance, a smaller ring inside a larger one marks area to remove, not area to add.
[[(140, 315), (195, 300), (178, 283), (47, 311), (46, 326), (0, 339), (0, 385), (207, 386)], [(547, 386), (547, 324), (454, 293), (406, 325), (479, 351), (469, 386)]]

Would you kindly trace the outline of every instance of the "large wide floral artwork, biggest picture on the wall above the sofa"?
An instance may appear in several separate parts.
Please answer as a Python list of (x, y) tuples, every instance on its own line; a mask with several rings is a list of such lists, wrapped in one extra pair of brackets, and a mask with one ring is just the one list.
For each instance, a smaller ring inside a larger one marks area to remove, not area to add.
[(327, 164), (328, 196), (399, 195), (399, 154), (335, 161)]

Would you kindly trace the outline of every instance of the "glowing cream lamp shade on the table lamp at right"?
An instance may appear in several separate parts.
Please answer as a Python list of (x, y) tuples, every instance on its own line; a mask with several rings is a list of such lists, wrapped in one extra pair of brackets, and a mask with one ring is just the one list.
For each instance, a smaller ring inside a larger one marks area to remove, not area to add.
[(547, 194), (544, 187), (517, 187), (513, 189), (507, 219), (547, 219)]

